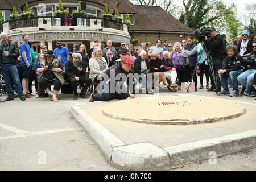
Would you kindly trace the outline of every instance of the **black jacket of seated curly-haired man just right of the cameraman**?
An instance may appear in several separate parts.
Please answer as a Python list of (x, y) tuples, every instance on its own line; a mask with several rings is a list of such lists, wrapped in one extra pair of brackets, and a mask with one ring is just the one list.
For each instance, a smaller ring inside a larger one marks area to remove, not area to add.
[(236, 53), (233, 57), (226, 56), (222, 62), (222, 69), (226, 69), (226, 72), (238, 71), (242, 69), (243, 59), (239, 53)]

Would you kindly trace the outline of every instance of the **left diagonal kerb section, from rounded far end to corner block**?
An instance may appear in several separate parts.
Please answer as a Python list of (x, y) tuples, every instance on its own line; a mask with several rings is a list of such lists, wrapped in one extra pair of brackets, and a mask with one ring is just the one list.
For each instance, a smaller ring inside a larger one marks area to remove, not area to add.
[(111, 159), (112, 149), (117, 146), (125, 145), (125, 143), (110, 133), (104, 126), (95, 121), (92, 117), (89, 117), (81, 107), (77, 105), (72, 106), (71, 114), (81, 126), (88, 131), (92, 139), (98, 144), (101, 151), (106, 156), (108, 162), (110, 162)]

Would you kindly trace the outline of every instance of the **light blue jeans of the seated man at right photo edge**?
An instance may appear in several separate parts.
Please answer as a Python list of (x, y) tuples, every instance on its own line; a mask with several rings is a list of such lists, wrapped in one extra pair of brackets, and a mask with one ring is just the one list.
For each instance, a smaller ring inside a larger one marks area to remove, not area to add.
[(254, 73), (256, 69), (249, 69), (237, 77), (238, 82), (246, 87), (245, 93), (250, 94), (253, 89)]

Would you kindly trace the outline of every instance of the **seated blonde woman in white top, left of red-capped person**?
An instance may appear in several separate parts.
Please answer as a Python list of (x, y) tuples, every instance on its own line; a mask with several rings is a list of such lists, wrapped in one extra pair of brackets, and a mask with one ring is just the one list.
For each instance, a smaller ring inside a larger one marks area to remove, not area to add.
[(104, 57), (102, 57), (102, 51), (100, 47), (95, 47), (93, 49), (92, 58), (89, 60), (90, 76), (89, 78), (94, 81), (97, 81), (97, 76), (101, 73), (105, 73), (108, 69), (108, 64)]

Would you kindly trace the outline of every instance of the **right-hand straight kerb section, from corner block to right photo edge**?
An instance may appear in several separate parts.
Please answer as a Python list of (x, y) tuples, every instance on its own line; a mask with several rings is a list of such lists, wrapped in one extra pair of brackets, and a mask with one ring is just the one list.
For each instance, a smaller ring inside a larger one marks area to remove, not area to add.
[(214, 154), (220, 157), (253, 147), (256, 147), (255, 130), (166, 147), (164, 150), (170, 155), (171, 167), (177, 168), (198, 160), (209, 159)]

